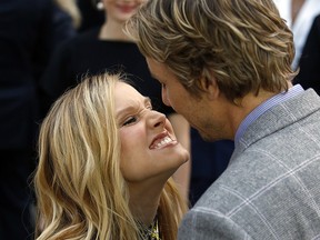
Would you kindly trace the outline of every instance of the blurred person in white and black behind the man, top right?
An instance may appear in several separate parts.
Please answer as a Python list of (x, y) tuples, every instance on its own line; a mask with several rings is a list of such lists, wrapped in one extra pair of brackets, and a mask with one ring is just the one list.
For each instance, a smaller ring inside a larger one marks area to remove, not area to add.
[(274, 0), (280, 16), (293, 32), (296, 56), (292, 68), (299, 69), (294, 83), (320, 92), (319, 0)]

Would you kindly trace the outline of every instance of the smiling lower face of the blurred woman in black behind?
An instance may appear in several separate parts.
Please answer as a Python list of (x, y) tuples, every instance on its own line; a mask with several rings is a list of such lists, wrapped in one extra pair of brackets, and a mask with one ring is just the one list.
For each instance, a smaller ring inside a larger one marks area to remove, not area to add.
[(144, 0), (103, 0), (108, 20), (127, 21)]

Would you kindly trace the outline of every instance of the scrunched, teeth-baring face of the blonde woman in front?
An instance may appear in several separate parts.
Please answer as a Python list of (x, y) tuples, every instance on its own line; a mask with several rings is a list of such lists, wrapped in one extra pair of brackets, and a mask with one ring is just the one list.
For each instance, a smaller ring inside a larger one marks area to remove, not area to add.
[(177, 141), (171, 123), (131, 86), (118, 82), (114, 93), (124, 179), (168, 179), (189, 160), (189, 152)]

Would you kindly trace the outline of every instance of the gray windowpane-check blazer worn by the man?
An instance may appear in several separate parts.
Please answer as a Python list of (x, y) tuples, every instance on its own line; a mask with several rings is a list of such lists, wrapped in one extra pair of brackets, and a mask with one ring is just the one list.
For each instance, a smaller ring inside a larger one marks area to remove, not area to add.
[(320, 97), (313, 90), (247, 129), (178, 239), (320, 239)]

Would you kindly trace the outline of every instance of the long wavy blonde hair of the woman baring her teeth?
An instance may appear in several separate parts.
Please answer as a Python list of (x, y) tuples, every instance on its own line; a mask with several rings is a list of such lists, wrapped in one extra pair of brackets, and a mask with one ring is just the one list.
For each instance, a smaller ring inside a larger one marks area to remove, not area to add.
[[(87, 77), (57, 100), (44, 118), (34, 176), (38, 240), (139, 239), (119, 166), (113, 91), (121, 78)], [(170, 179), (158, 212), (163, 240), (176, 239), (186, 210)]]

